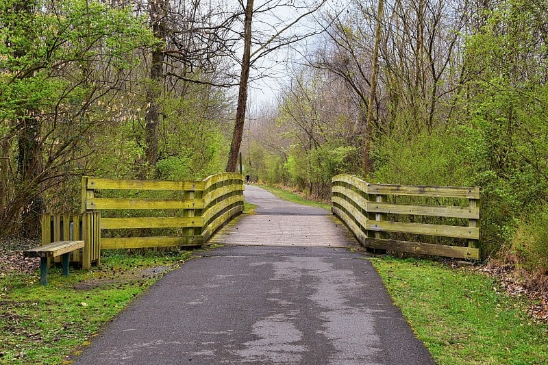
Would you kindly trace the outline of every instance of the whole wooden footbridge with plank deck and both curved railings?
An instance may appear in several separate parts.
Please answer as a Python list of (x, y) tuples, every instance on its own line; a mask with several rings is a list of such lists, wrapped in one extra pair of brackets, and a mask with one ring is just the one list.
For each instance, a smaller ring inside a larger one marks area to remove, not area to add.
[[(236, 173), (186, 181), (84, 177), (82, 213), (44, 214), (42, 244), (85, 241), (84, 248), (71, 252), (71, 262), (83, 268), (99, 264), (101, 249), (214, 243), (347, 247), (359, 242), (372, 249), (481, 258), (477, 187), (369, 184), (338, 175), (332, 192), (329, 212), (280, 203), (265, 190), (244, 186)], [(232, 221), (243, 210), (244, 194), (259, 206)]]

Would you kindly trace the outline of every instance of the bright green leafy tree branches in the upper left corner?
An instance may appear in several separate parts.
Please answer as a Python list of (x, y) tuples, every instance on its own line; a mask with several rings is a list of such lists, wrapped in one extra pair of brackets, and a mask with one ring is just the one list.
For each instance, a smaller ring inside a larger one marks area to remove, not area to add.
[(90, 76), (90, 62), (133, 68), (140, 62), (134, 49), (153, 42), (129, 8), (84, 0), (54, 5), (55, 13), (38, 0), (27, 3), (26, 11), (17, 0), (0, 5), (0, 23), (5, 25), (0, 27), (1, 119), (25, 110), (59, 108), (60, 100), (82, 102), (84, 95), (101, 87), (82, 83)]

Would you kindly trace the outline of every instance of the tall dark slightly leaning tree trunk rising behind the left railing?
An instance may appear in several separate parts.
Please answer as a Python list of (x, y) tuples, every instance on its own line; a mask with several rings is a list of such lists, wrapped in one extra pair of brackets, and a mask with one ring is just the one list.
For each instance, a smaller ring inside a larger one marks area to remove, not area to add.
[(249, 80), (249, 68), (251, 68), (251, 20), (253, 18), (253, 0), (247, 0), (244, 22), (244, 53), (242, 56), (242, 72), (240, 74), (240, 86), (238, 89), (238, 106), (236, 108), (236, 122), (234, 134), (228, 155), (227, 171), (236, 172), (238, 168), (238, 152), (242, 144), (244, 132), (245, 112), (247, 107), (247, 82)]

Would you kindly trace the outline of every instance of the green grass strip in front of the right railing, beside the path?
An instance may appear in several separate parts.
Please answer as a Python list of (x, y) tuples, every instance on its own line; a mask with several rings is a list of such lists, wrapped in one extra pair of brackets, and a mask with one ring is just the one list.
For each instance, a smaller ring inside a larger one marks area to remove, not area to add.
[(422, 260), (371, 261), (436, 363), (548, 363), (548, 325), (492, 277)]

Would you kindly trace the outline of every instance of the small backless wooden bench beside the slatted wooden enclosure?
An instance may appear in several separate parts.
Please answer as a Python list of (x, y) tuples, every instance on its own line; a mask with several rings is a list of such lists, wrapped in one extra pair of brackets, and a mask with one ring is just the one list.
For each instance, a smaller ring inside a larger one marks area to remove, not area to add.
[(82, 249), (84, 241), (57, 241), (45, 246), (23, 251), (25, 257), (40, 257), (40, 284), (47, 285), (47, 259), (49, 257), (62, 257), (63, 275), (69, 276), (69, 253)]

